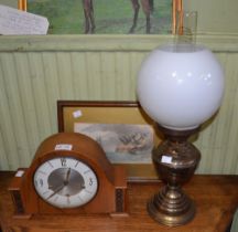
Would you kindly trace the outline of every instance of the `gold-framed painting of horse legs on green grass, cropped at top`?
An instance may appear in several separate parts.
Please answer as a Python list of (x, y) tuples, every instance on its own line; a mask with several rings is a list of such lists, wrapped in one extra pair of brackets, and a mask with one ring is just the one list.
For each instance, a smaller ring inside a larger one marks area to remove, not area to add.
[(18, 0), (46, 17), (50, 34), (170, 34), (182, 0)]

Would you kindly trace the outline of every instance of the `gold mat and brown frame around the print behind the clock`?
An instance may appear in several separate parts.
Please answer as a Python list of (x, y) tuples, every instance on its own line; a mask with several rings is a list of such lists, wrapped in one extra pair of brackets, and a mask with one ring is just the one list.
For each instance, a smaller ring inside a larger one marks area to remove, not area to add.
[[(58, 101), (58, 131), (75, 131), (74, 125), (83, 124), (120, 124), (149, 125), (153, 131), (153, 146), (161, 141), (156, 126), (143, 112), (138, 102), (95, 102), (95, 101)], [(151, 157), (151, 152), (150, 152)], [(123, 165), (128, 179), (133, 181), (158, 180), (152, 162), (130, 162)]]

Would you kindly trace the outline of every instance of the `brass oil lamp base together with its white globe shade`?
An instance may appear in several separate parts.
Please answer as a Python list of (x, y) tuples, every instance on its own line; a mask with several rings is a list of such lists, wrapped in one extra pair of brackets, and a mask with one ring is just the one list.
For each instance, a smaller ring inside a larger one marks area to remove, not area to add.
[(181, 186), (193, 176), (201, 154), (187, 138), (218, 110), (223, 93), (223, 70), (205, 46), (166, 44), (143, 61), (138, 74), (138, 98), (165, 138), (152, 151), (165, 182), (148, 202), (148, 212), (155, 221), (174, 226), (194, 218), (194, 202)]

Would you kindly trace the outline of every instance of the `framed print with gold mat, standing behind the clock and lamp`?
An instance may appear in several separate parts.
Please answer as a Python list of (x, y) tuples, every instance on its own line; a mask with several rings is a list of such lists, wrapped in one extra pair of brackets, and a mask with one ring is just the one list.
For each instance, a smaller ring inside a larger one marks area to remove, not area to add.
[(161, 138), (138, 102), (57, 102), (58, 131), (97, 140), (110, 162), (123, 165), (132, 180), (158, 179), (151, 151)]

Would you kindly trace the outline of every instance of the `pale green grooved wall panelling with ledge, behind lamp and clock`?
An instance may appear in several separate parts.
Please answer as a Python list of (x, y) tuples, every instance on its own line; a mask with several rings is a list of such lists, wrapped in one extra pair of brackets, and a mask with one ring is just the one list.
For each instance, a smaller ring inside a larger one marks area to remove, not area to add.
[[(0, 38), (0, 169), (28, 167), (57, 131), (57, 99), (134, 101), (143, 57), (172, 36), (62, 35)], [(219, 113), (195, 145), (199, 173), (238, 173), (238, 38), (203, 35), (226, 74)]]

